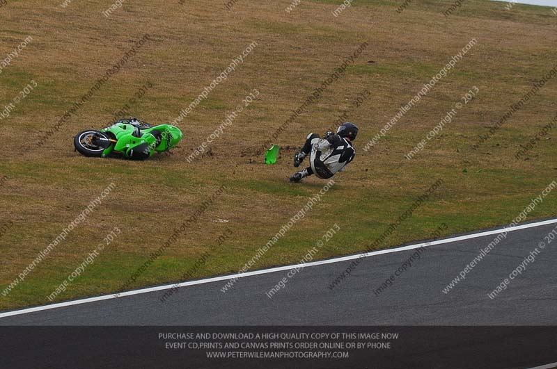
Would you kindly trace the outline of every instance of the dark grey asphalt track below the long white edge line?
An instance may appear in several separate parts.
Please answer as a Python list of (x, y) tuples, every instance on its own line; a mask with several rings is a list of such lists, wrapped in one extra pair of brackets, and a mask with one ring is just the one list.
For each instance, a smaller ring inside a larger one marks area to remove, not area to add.
[[(221, 288), (228, 277), (219, 277), (182, 286), (166, 302), (160, 301), (166, 287), (158, 287), (56, 309), (0, 313), (0, 325), (557, 325), (557, 238), (552, 243), (544, 240), (556, 225), (557, 220), (547, 220), (508, 232), (449, 293), (442, 290), (496, 238), (499, 229), (425, 247), (421, 258), (379, 295), (373, 291), (416, 248), (406, 249), (410, 245), (363, 258), (332, 290), (329, 284), (353, 260), (308, 265), (272, 298), (266, 293), (288, 268), (238, 279), (226, 293)], [(546, 243), (544, 249), (540, 242)], [(490, 299), (487, 294), (536, 247), (540, 254), (535, 261)]]

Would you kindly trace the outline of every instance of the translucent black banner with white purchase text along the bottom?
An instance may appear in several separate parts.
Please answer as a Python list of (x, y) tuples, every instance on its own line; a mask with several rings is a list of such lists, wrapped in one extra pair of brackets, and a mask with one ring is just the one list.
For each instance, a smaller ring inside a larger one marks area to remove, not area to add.
[(489, 368), (557, 362), (557, 327), (0, 327), (0, 368)]

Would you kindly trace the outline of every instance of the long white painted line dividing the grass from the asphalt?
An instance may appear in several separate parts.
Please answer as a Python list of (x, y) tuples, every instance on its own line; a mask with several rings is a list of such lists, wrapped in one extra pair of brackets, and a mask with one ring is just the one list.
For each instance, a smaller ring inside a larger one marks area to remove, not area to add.
[(501, 233), (503, 231), (512, 232), (512, 231), (518, 231), (519, 229), (540, 227), (540, 226), (544, 226), (544, 225), (547, 225), (547, 224), (554, 224), (554, 223), (557, 223), (557, 218), (556, 219), (550, 219), (550, 220), (544, 220), (542, 222), (521, 224), (521, 225), (517, 225), (515, 227), (504, 227), (504, 228), (494, 229), (493, 231), (485, 231), (485, 232), (480, 232), (480, 233), (466, 234), (464, 236), (445, 238), (443, 240), (434, 240), (434, 241), (431, 241), (431, 242), (428, 242), (428, 243), (416, 243), (415, 245), (397, 247), (395, 249), (382, 249), (382, 250), (373, 251), (373, 252), (364, 252), (362, 254), (342, 256), (342, 257), (334, 258), (334, 259), (313, 261), (311, 263), (284, 265), (284, 266), (276, 267), (276, 268), (255, 270), (253, 272), (223, 275), (221, 277), (198, 279), (196, 281), (185, 281), (185, 282), (182, 282), (182, 283), (179, 283), (179, 284), (166, 284), (164, 286), (142, 288), (141, 290), (131, 290), (131, 291), (120, 293), (118, 295), (114, 295), (114, 294), (103, 295), (103, 296), (97, 296), (97, 297), (89, 297), (89, 298), (81, 299), (81, 300), (59, 302), (58, 304), (35, 306), (35, 307), (32, 307), (32, 308), (28, 308), (28, 309), (21, 309), (21, 310), (15, 310), (15, 311), (7, 311), (6, 313), (0, 313), (0, 318), (6, 318), (8, 316), (13, 316), (13, 315), (34, 313), (36, 311), (51, 310), (51, 309), (65, 307), (65, 306), (88, 304), (89, 302), (111, 300), (111, 299), (116, 299), (116, 298), (119, 298), (119, 297), (139, 295), (141, 293), (150, 293), (150, 292), (155, 292), (155, 291), (159, 291), (159, 290), (168, 290), (168, 289), (173, 288), (173, 287), (180, 288), (180, 287), (185, 287), (185, 286), (194, 286), (196, 284), (207, 284), (207, 283), (212, 283), (212, 282), (217, 282), (217, 281), (228, 281), (228, 279), (234, 279), (234, 278), (251, 277), (252, 275), (258, 275), (258, 274), (268, 274), (268, 273), (274, 273), (274, 272), (281, 272), (282, 270), (290, 270), (292, 268), (308, 268), (308, 267), (312, 267), (312, 266), (315, 266), (315, 265), (340, 263), (340, 262), (343, 262), (343, 261), (354, 260), (354, 259), (358, 259), (358, 258), (367, 258), (369, 256), (391, 254), (393, 252), (401, 252), (401, 251), (407, 251), (407, 250), (411, 250), (411, 249), (418, 249), (419, 247), (429, 247), (429, 246), (434, 246), (434, 245), (441, 245), (441, 244), (444, 244), (444, 243), (453, 243), (453, 242), (462, 241), (462, 240), (469, 240), (471, 238), (478, 238), (478, 237), (483, 237), (483, 236), (489, 236), (489, 235), (492, 235), (492, 234), (498, 234), (498, 233)]

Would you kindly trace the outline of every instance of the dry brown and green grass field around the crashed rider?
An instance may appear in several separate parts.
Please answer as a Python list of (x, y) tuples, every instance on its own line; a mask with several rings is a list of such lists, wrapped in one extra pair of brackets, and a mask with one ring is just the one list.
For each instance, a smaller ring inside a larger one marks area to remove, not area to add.
[[(102, 11), (111, 1), (74, 0), (67, 8), (56, 2), (10, 1), (3, 8), (2, 53), (26, 35), (32, 35), (33, 42), (0, 74), (0, 101), (11, 101), (31, 79), (38, 88), (1, 121), (0, 140), (7, 149), (0, 174), (8, 181), (0, 188), (0, 215), (2, 222), (13, 220), (15, 225), (0, 238), (0, 288), (103, 188), (111, 182), (117, 187), (24, 283), (0, 297), (0, 309), (46, 302), (115, 226), (122, 235), (59, 298), (116, 290), (222, 184), (226, 193), (134, 286), (181, 279), (205, 251), (213, 256), (198, 276), (241, 268), (324, 184), (317, 179), (301, 186), (288, 183), (293, 149), (283, 150), (273, 166), (262, 165), (262, 157), (253, 152), (362, 42), (369, 46), (356, 65), (290, 125), (277, 144), (298, 147), (309, 131), (324, 131), (346, 112), (361, 127), (358, 150), (451, 56), (471, 38), (478, 39), (386, 138), (367, 153), (357, 151), (322, 203), (256, 268), (297, 262), (335, 222), (342, 230), (319, 257), (366, 249), (439, 177), (444, 186), (382, 246), (423, 238), (441, 222), (449, 225), (447, 233), (506, 224), (556, 177), (553, 140), (540, 142), (528, 161), (514, 158), (518, 145), (555, 115), (556, 81), (480, 150), (471, 149), (477, 135), (554, 65), (557, 18), (549, 8), (515, 5), (508, 12), (502, 3), (469, 0), (460, 13), (446, 18), (442, 12), (450, 2), (412, 3), (398, 14), (398, 1), (359, 0), (333, 17), (337, 1), (302, 1), (287, 14), (289, 3), (240, 0), (226, 10), (224, 1), (187, 1), (185, 6), (178, 1), (133, 1), (109, 18)], [(146, 33), (151, 41), (37, 148), (41, 134)], [(155, 123), (174, 120), (252, 41), (258, 42), (253, 53), (180, 124), (185, 140), (173, 154), (134, 163), (88, 159), (73, 151), (77, 131), (104, 126), (148, 81), (154, 87), (132, 107), (131, 115)], [(478, 98), (407, 161), (404, 155), (473, 85), (480, 89)], [(187, 163), (191, 150), (252, 88), (260, 91), (260, 98), (212, 144), (212, 156)], [(354, 108), (356, 94), (366, 88), (372, 96)], [(531, 217), (554, 215), (553, 198)], [(230, 222), (214, 222), (217, 218)], [(226, 229), (233, 234), (217, 247)]]

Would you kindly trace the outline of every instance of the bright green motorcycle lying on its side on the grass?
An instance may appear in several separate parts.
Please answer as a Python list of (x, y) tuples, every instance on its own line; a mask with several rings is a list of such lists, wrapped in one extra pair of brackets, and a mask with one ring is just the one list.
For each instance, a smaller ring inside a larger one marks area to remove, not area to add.
[(171, 124), (150, 124), (132, 119), (118, 120), (100, 131), (87, 130), (77, 133), (74, 147), (84, 156), (104, 158), (120, 154), (125, 158), (145, 160), (155, 151), (164, 152), (178, 145), (182, 131)]

